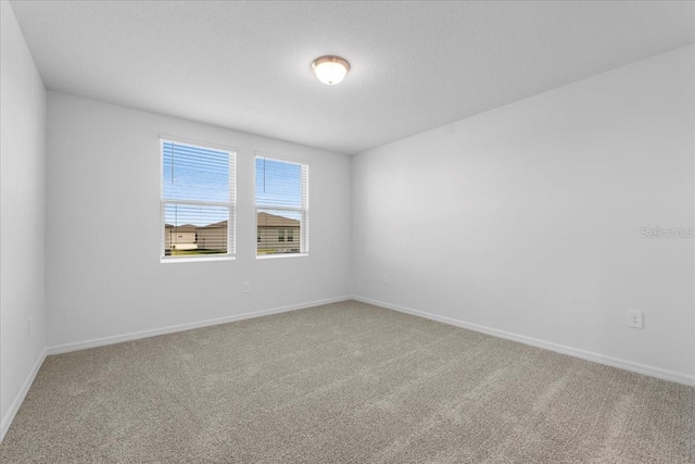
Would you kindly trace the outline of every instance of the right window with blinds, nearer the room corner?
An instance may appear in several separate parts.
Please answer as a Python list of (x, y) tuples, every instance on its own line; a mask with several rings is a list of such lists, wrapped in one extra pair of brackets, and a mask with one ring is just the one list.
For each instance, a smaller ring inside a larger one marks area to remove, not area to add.
[(255, 177), (256, 255), (307, 253), (308, 165), (256, 155)]

